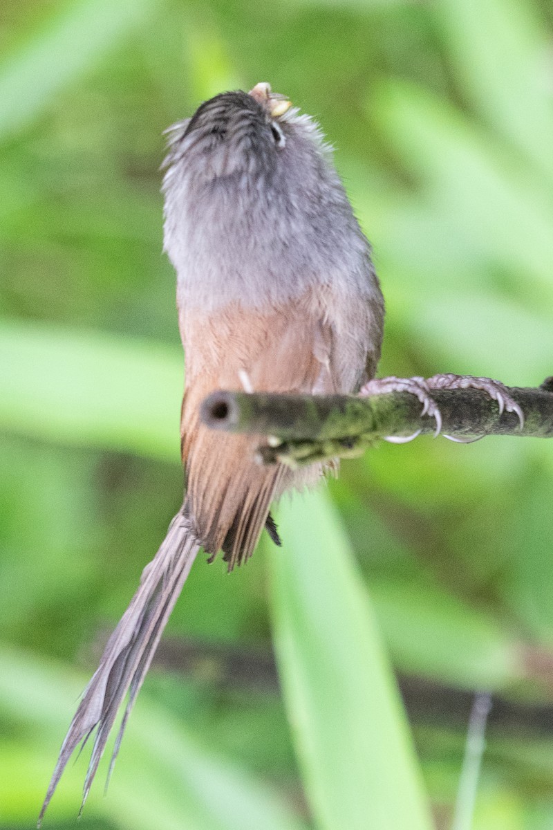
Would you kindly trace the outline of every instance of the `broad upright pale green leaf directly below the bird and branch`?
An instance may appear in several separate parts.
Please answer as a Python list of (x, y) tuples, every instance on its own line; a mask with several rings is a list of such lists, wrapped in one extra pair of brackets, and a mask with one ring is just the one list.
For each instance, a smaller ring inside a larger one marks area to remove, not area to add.
[(371, 603), (321, 492), (281, 511), (274, 642), (321, 830), (429, 830), (420, 769)]

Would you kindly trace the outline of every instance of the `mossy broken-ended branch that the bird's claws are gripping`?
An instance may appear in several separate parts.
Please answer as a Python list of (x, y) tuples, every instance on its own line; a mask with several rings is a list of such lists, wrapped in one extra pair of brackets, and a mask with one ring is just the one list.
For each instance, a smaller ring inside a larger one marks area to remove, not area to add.
[[(553, 378), (539, 388), (509, 388), (525, 416), (521, 429), (514, 413), (499, 414), (496, 401), (475, 389), (435, 389), (442, 432), (463, 440), (485, 435), (553, 437)], [(359, 398), (355, 395), (276, 395), (215, 392), (201, 405), (201, 421), (211, 429), (265, 436), (259, 449), (264, 464), (301, 466), (313, 461), (360, 455), (385, 437), (435, 431), (433, 417), (421, 415), (410, 393)]]

